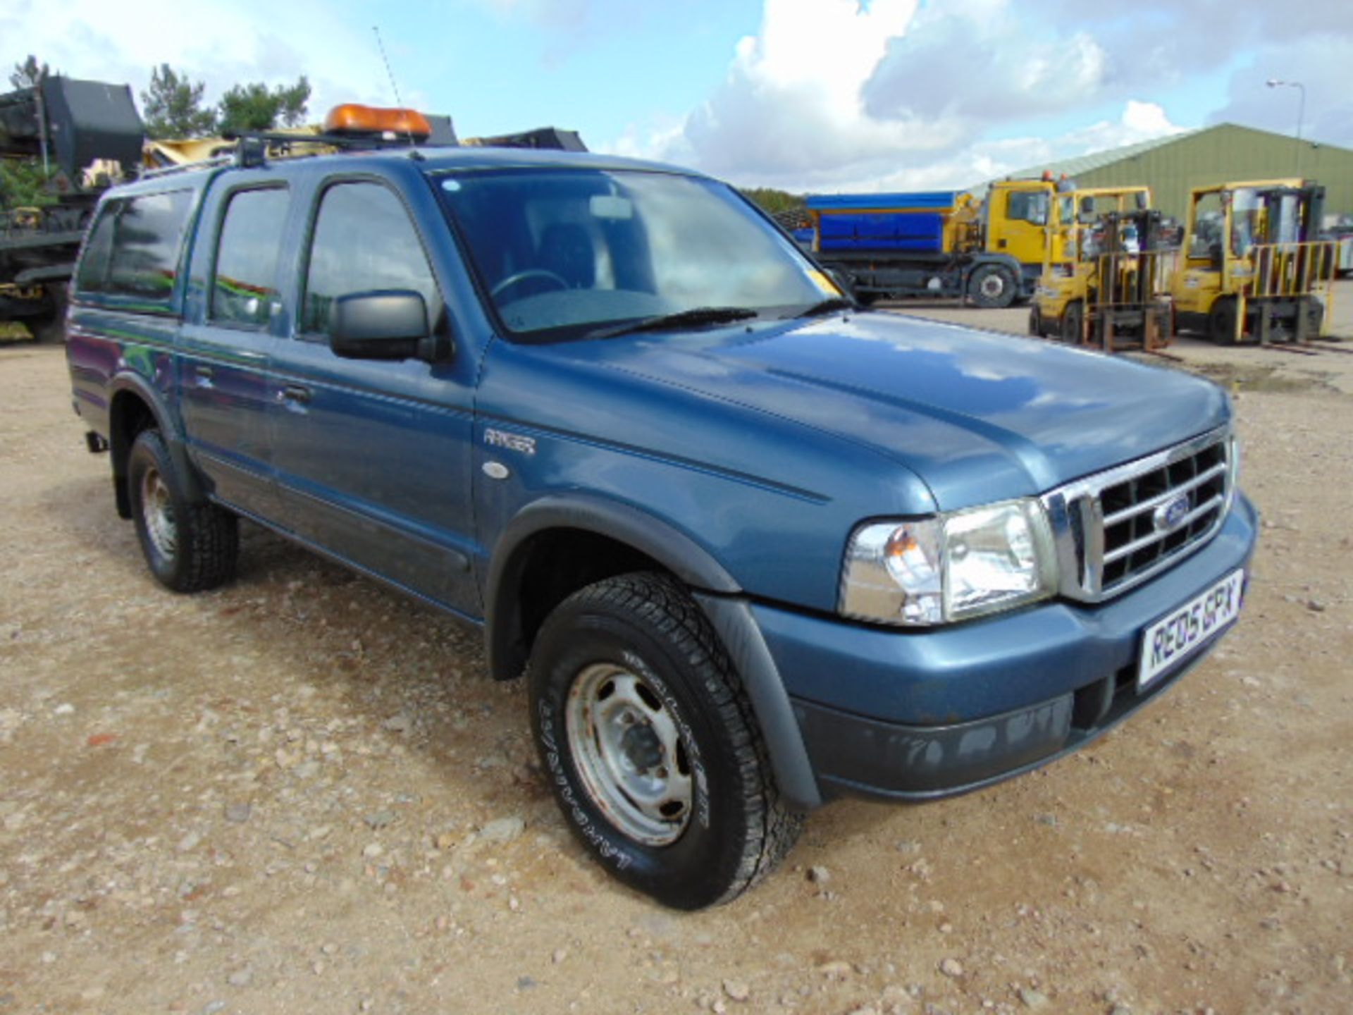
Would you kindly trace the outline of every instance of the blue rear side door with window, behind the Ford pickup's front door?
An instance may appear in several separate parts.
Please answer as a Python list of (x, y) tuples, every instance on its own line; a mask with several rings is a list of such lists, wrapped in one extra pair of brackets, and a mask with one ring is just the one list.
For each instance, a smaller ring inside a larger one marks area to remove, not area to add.
[(203, 210), (180, 359), (189, 449), (226, 503), (276, 510), (268, 421), (268, 353), (284, 326), (277, 268), (291, 208), (281, 180), (253, 179)]

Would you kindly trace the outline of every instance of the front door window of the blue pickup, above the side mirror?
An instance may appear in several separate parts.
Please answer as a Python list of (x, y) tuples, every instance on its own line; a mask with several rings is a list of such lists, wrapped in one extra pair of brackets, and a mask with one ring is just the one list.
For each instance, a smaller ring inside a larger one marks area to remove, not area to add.
[(376, 183), (341, 183), (325, 191), (310, 246), (302, 330), (329, 333), (329, 307), (338, 296), (372, 290), (413, 290), (441, 314), (441, 296), (409, 212)]

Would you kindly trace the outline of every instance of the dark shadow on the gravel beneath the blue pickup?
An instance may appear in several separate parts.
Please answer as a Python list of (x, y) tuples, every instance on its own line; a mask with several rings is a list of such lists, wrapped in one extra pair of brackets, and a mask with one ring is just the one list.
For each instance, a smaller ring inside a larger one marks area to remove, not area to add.
[[(587, 890), (606, 881), (572, 840), (541, 774), (525, 682), (490, 678), (478, 628), (252, 522), (241, 524), (239, 568), (231, 583), (176, 595), (146, 571), (135, 526), (116, 517), (106, 476), (50, 487), (43, 502), (64, 539), (95, 558), (88, 560), (91, 572), (107, 574), (108, 585), (126, 586), (129, 595), (152, 602), (164, 597), (175, 625), (187, 608), (183, 636), (196, 641), (192, 654), (221, 644), (250, 659), (250, 670), (262, 674), (250, 692), (256, 697), (294, 702), (296, 712), (306, 702), (341, 701), (350, 706), (344, 712), (363, 717), (368, 738), (399, 744), (406, 757), (436, 770), (429, 811), (451, 815), (460, 827), (475, 827), (487, 815), (518, 813), (528, 827), (557, 838), (570, 881)], [(200, 682), (210, 685), (216, 678), (207, 662), (202, 667)], [(317, 692), (313, 698), (307, 689)], [(321, 717), (334, 710), (318, 708)], [(407, 775), (395, 771), (388, 778)], [(809, 823), (789, 862), (829, 859), (897, 813), (863, 801), (833, 803)]]

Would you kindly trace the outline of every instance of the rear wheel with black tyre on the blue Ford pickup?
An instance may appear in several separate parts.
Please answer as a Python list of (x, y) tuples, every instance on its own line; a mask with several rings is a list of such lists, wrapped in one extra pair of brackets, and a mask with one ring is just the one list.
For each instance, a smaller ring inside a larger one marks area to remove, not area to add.
[(239, 556), (235, 516), (187, 498), (160, 430), (137, 434), (127, 459), (127, 483), (141, 552), (161, 585), (188, 593), (234, 578)]

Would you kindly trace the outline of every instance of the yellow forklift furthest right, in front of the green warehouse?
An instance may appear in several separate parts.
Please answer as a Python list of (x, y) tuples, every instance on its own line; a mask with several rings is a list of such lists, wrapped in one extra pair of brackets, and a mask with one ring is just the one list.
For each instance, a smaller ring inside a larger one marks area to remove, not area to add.
[(1316, 240), (1323, 204), (1325, 188), (1299, 179), (1195, 188), (1169, 287), (1176, 328), (1226, 344), (1323, 336), (1338, 254)]

